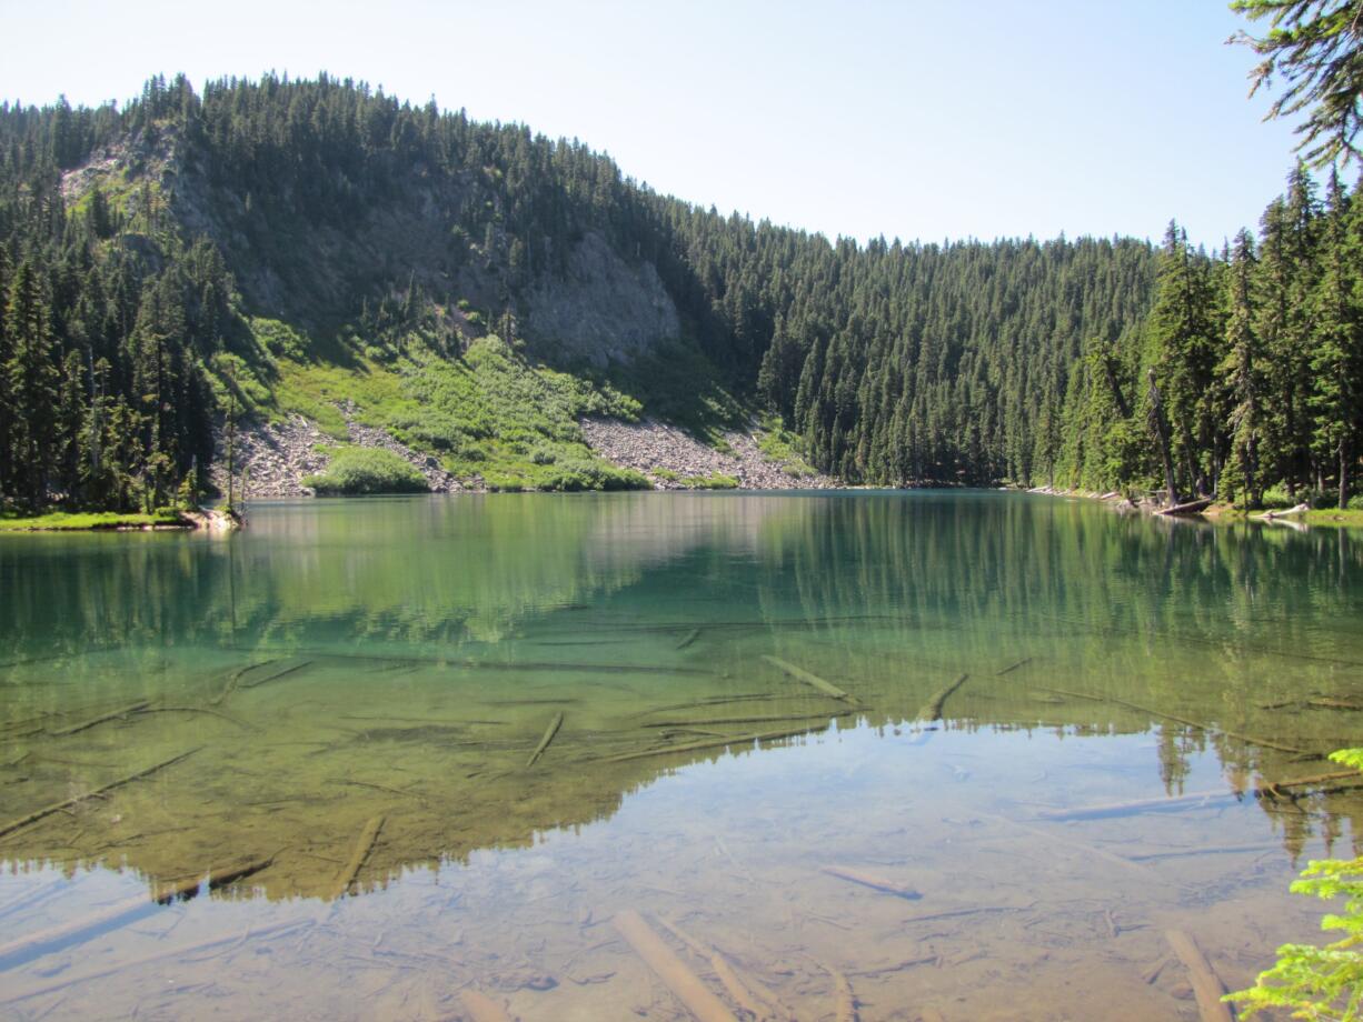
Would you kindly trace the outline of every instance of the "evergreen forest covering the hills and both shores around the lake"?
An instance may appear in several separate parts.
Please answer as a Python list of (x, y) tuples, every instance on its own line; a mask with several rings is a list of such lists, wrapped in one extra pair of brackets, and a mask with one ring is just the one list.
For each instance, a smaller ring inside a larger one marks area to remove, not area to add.
[[(661, 285), (667, 343), (555, 343), (536, 296), (571, 297), (592, 238)], [(1363, 198), (1300, 166), (1213, 252), (1176, 223), (1159, 247), (859, 244), (363, 82), (153, 78), (121, 105), (0, 105), (0, 501), (23, 510), (196, 500), (228, 424), (284, 414), (303, 368), (345, 398), (375, 372), (478, 371), (488, 337), (567, 417), (399, 425), (453, 471), (542, 461), (587, 413), (703, 432), (677, 375), (851, 484), (1345, 504), (1363, 452)]]

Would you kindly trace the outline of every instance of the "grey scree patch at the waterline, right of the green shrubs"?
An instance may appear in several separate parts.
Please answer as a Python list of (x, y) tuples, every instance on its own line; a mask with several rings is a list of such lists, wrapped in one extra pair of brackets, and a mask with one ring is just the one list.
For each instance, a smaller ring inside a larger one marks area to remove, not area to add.
[[(729, 431), (724, 435), (733, 454), (706, 447), (676, 427), (646, 420), (620, 422), (585, 418), (582, 432), (592, 448), (607, 461), (638, 469), (658, 489), (686, 489), (686, 477), (732, 476), (743, 489), (836, 489), (837, 480), (827, 476), (792, 476), (780, 462), (767, 461), (751, 433)], [(668, 478), (658, 473), (671, 473)]]

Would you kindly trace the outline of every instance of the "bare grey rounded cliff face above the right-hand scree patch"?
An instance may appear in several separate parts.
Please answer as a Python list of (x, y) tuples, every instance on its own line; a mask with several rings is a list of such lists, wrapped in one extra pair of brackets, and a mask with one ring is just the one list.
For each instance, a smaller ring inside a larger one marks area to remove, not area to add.
[(630, 266), (596, 232), (572, 249), (567, 274), (542, 278), (527, 304), (526, 327), (542, 347), (594, 365), (626, 361), (682, 331), (653, 263)]

